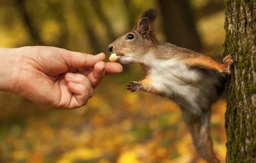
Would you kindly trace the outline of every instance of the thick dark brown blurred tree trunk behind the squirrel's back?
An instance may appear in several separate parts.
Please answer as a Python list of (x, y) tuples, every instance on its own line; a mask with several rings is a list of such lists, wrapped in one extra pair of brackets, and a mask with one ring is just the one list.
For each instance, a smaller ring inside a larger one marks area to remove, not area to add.
[(163, 16), (166, 41), (172, 44), (200, 51), (198, 36), (189, 0), (158, 0)]

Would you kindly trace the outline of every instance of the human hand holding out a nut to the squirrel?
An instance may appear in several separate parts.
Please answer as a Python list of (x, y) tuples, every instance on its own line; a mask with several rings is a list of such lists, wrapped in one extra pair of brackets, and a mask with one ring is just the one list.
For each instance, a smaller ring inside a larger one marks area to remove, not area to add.
[(9, 70), (2, 73), (8, 77), (0, 79), (0, 91), (60, 109), (86, 105), (105, 73), (122, 72), (119, 63), (104, 63), (103, 53), (94, 56), (48, 46), (15, 48), (2, 58), (0, 69)]

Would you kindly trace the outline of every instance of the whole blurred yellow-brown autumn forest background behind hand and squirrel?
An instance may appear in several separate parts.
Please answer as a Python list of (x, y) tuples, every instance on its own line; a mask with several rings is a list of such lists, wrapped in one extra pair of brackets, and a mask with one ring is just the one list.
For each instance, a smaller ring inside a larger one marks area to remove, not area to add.
[[(140, 14), (161, 9), (162, 41), (222, 56), (223, 0), (0, 0), (0, 46), (47, 45), (88, 54), (129, 31)], [(179, 108), (126, 84), (143, 78), (139, 66), (108, 75), (88, 105), (51, 110), (0, 93), (1, 163), (204, 163), (198, 158)], [(226, 156), (226, 99), (212, 107), (217, 157)]]

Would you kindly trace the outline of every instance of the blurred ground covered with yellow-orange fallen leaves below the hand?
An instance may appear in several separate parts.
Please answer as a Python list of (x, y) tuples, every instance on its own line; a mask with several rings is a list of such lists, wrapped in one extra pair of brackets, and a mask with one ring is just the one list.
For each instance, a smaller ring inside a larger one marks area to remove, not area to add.
[[(115, 76), (107, 78), (85, 107), (42, 109), (41, 115), (2, 126), (2, 161), (189, 163), (198, 159), (174, 103), (143, 92), (131, 93), (114, 81)], [(220, 100), (213, 105), (211, 119), (214, 149), (222, 161), (226, 155), (225, 111), (226, 101)]]

